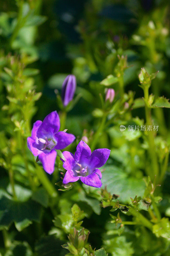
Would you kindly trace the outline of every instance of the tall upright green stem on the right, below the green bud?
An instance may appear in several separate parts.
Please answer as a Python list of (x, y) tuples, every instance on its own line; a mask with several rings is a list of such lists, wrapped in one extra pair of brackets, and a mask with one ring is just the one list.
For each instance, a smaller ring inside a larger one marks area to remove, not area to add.
[[(146, 101), (148, 101), (148, 99), (149, 99), (149, 86), (144, 87), (144, 98), (145, 98)], [(148, 108), (147, 103), (145, 103), (145, 116), (146, 116), (146, 124), (152, 126), (151, 109)], [(153, 173), (150, 172), (150, 176), (153, 179), (154, 176), (156, 175), (157, 179), (158, 179), (159, 165), (158, 165), (158, 159), (157, 159), (157, 155), (156, 155), (156, 151), (155, 151), (155, 142), (154, 142), (154, 133), (153, 133), (153, 131), (148, 131), (147, 136), (148, 136), (148, 143), (149, 143), (149, 154), (150, 154), (152, 169), (153, 169)]]

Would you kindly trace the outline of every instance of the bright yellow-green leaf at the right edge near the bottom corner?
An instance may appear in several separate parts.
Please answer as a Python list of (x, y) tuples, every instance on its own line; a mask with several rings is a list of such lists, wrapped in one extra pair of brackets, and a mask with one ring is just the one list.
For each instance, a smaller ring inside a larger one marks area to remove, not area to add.
[(157, 237), (170, 239), (170, 222), (168, 218), (162, 218), (159, 223), (153, 226), (153, 233)]

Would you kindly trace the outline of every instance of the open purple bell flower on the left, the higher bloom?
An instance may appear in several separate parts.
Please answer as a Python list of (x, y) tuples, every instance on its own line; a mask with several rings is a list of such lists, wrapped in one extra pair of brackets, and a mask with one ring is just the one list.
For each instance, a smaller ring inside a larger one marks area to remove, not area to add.
[(27, 146), (34, 156), (38, 156), (42, 166), (49, 174), (54, 172), (55, 149), (63, 149), (75, 140), (75, 136), (66, 132), (58, 132), (60, 119), (57, 111), (48, 114), (43, 122), (33, 124), (31, 137), (27, 138)]

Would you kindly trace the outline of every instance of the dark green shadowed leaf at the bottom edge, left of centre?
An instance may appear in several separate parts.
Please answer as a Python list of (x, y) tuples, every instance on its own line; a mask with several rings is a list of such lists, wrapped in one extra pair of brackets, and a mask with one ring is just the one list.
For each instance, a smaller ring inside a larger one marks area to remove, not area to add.
[(45, 236), (36, 243), (35, 251), (38, 256), (64, 256), (68, 251), (61, 247), (62, 244), (63, 241), (53, 235)]

